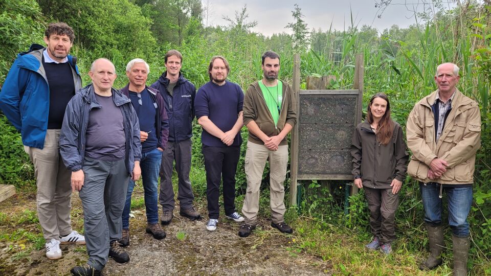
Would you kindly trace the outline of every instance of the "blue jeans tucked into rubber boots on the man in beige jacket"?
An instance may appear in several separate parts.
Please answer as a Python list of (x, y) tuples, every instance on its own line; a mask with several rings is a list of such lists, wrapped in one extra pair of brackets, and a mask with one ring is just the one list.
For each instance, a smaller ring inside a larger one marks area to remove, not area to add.
[[(440, 184), (429, 182), (426, 185), (419, 183), (423, 207), (425, 208), (425, 222), (436, 226), (441, 225), (441, 198)], [(452, 233), (460, 238), (469, 236), (469, 223), (467, 215), (471, 211), (472, 185), (462, 188), (454, 188), (450, 185), (443, 186), (447, 193), (449, 208), (449, 225)]]

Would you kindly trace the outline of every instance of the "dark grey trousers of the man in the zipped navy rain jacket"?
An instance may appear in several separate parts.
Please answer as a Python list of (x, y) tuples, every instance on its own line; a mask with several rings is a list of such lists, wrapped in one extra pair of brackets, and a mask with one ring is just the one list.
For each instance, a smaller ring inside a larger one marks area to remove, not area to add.
[(177, 199), (182, 210), (193, 206), (194, 195), (189, 180), (191, 170), (191, 139), (179, 142), (168, 142), (162, 153), (160, 166), (159, 203), (162, 210), (174, 210), (174, 190), (172, 189), (172, 167), (175, 160), (175, 171), (178, 177)]

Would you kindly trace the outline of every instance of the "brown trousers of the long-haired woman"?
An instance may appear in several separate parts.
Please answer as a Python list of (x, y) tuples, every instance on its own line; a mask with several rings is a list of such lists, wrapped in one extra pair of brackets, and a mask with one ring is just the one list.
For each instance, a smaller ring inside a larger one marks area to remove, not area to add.
[(399, 205), (399, 195), (390, 189), (365, 189), (365, 197), (370, 210), (370, 228), (372, 235), (382, 243), (395, 240), (395, 211)]

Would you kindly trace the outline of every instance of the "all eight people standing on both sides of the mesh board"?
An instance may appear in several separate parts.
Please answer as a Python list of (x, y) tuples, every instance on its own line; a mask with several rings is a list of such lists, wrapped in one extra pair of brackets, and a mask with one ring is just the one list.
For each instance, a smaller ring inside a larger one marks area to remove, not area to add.
[[(130, 244), (129, 213), (135, 181), (142, 177), (146, 232), (166, 237), (175, 208), (172, 172), (178, 178), (180, 215), (201, 215), (193, 205), (189, 173), (194, 117), (203, 128), (202, 151), (207, 181), (208, 231), (219, 219), (220, 183), (225, 218), (242, 222), (238, 235), (248, 237), (257, 225), (259, 189), (266, 160), (270, 164), (271, 226), (293, 233), (284, 221), (284, 185), (288, 164), (287, 134), (297, 122), (291, 86), (278, 80), (280, 56), (262, 55), (263, 78), (240, 86), (227, 80), (230, 66), (214, 56), (210, 81), (195, 86), (181, 73), (183, 56), (170, 50), (166, 71), (147, 86), (149, 65), (133, 59), (126, 66), (128, 84), (113, 87), (117, 77), (108, 59), (96, 59), (88, 72), (92, 83), (82, 88), (77, 59), (69, 55), (74, 32), (52, 23), (47, 46), (31, 45), (20, 53), (0, 93), (0, 109), (20, 131), (35, 169), (37, 213), (48, 259), (61, 258), (64, 243), (86, 244), (86, 264), (74, 275), (100, 275), (108, 257), (129, 261), (122, 249)], [(441, 264), (443, 231), (441, 194), (448, 195), (453, 232), (454, 273), (466, 273), (469, 247), (466, 217), (472, 203), (475, 154), (480, 144), (479, 107), (456, 88), (459, 68), (438, 66), (438, 89), (419, 101), (407, 123), (409, 168), (403, 129), (390, 118), (389, 99), (375, 94), (367, 118), (353, 134), (354, 185), (364, 188), (373, 240), (369, 249), (391, 252), (398, 192), (409, 175), (419, 181), (425, 208), (430, 257), (421, 269)], [(235, 174), (242, 143), (240, 129), (249, 130), (245, 153), (247, 192), (240, 215), (235, 207)], [(174, 166), (175, 162), (175, 166)], [(158, 182), (160, 176), (160, 191)], [(84, 235), (71, 227), (72, 191), (78, 191), (84, 214)], [(162, 217), (159, 223), (159, 208)]]

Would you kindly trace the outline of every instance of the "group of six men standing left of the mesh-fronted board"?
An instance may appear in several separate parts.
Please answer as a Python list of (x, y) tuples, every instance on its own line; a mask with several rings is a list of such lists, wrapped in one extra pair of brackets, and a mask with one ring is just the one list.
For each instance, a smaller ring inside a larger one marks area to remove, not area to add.
[[(293, 232), (284, 221), (283, 181), (288, 163), (286, 135), (296, 123), (296, 103), (292, 88), (278, 80), (278, 54), (263, 54), (264, 77), (250, 85), (245, 97), (238, 84), (227, 80), (230, 66), (222, 56), (212, 58), (210, 81), (196, 93), (181, 73), (183, 56), (177, 50), (166, 53), (166, 71), (150, 86), (146, 85), (150, 68), (145, 60), (129, 61), (128, 84), (116, 89), (114, 64), (99, 58), (88, 72), (92, 83), (82, 88), (77, 59), (69, 55), (73, 29), (63, 22), (52, 23), (44, 35), (46, 47), (33, 44), (14, 61), (0, 93), (0, 109), (21, 133), (34, 164), (37, 212), (48, 259), (61, 258), (60, 244), (77, 243), (86, 244), (89, 258), (71, 269), (74, 275), (100, 275), (109, 257), (128, 262), (122, 247), (130, 244), (131, 194), (140, 177), (145, 231), (155, 239), (165, 238), (161, 225), (171, 223), (175, 207), (174, 167), (179, 213), (200, 219), (189, 180), (194, 117), (203, 128), (206, 229), (217, 228), (222, 182), (225, 217), (242, 222), (240, 237), (251, 234), (269, 159), (271, 225), (283, 233)], [(244, 125), (251, 143), (245, 156), (248, 188), (242, 217), (235, 208), (235, 174)], [(84, 235), (71, 227), (73, 191), (78, 191), (82, 202)]]

